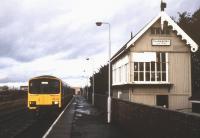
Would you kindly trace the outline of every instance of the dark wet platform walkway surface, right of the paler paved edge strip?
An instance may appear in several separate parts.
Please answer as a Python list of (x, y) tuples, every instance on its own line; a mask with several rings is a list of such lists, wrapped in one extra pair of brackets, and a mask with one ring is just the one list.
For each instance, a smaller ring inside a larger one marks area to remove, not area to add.
[(117, 126), (106, 123), (105, 115), (89, 104), (84, 97), (76, 97), (71, 138), (129, 138)]

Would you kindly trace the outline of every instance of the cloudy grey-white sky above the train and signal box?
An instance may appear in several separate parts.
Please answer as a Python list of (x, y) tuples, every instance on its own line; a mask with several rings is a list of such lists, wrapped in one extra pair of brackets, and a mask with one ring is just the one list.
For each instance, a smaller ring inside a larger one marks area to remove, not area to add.
[[(160, 12), (160, 0), (0, 0), (0, 84), (25, 83), (54, 75), (72, 86), (108, 61), (112, 54)], [(199, 0), (165, 0), (166, 13), (193, 13)], [(92, 60), (86, 61), (89, 57)], [(85, 72), (84, 72), (85, 70)]]

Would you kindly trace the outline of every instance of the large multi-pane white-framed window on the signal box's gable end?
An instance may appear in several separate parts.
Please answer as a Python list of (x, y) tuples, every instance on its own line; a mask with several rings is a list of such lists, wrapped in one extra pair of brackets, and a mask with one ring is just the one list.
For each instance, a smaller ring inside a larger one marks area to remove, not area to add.
[(167, 53), (133, 53), (134, 82), (167, 82)]

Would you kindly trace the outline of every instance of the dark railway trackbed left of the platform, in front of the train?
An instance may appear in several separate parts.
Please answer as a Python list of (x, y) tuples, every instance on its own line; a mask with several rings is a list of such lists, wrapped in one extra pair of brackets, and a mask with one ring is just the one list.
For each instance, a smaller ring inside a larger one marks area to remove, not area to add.
[(42, 137), (59, 113), (47, 110), (34, 116), (26, 98), (0, 102), (0, 138)]

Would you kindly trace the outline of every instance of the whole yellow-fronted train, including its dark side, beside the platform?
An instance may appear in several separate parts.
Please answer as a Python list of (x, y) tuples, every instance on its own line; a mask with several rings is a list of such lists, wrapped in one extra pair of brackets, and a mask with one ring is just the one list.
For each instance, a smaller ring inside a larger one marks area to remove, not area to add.
[(28, 82), (28, 108), (39, 110), (61, 109), (73, 97), (75, 90), (54, 76), (38, 76)]

